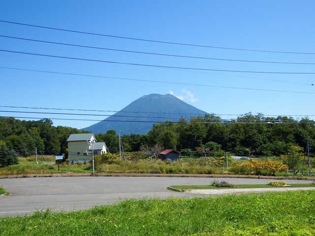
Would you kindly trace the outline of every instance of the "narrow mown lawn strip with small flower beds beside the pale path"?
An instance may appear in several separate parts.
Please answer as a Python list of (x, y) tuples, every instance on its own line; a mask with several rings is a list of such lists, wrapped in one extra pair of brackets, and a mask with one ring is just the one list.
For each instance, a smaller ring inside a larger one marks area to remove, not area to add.
[[(212, 185), (173, 185), (170, 186), (174, 189), (186, 190), (186, 189), (218, 189), (218, 187)], [(313, 183), (292, 183), (288, 186), (276, 187), (269, 184), (237, 184), (233, 187), (225, 187), (225, 188), (294, 188), (294, 187), (315, 187)], [(220, 187), (223, 188), (223, 187)]]

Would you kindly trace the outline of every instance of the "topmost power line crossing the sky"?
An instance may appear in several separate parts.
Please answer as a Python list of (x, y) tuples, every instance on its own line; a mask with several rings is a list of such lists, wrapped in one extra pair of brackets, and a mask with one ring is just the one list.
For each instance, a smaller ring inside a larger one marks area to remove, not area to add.
[(9, 23), (9, 24), (15, 24), (15, 25), (22, 25), (22, 26), (30, 26), (30, 27), (36, 27), (36, 28), (42, 28), (42, 29), (54, 29), (54, 30), (60, 30), (60, 31), (66, 31), (66, 32), (83, 33), (83, 34), (90, 34), (90, 35), (97, 35), (97, 36), (104, 36), (104, 37), (130, 39), (130, 40), (145, 41), (145, 42), (154, 42), (154, 43), (165, 43), (165, 44), (191, 46), (191, 47), (216, 48), (216, 49), (226, 49), (226, 50), (239, 50), (239, 51), (263, 52), (263, 53), (286, 53), (286, 54), (307, 54), (307, 55), (315, 55), (315, 53), (253, 50), (253, 49), (243, 49), (243, 48), (228, 48), (228, 47), (215, 47), (215, 46), (197, 45), (197, 44), (187, 44), (187, 43), (176, 43), (176, 42), (167, 42), (167, 41), (158, 41), (158, 40), (149, 40), (149, 39), (141, 39), (141, 38), (131, 38), (131, 37), (122, 37), (122, 36), (108, 35), (108, 34), (84, 32), (84, 31), (77, 31), (77, 30), (70, 30), (70, 29), (59, 29), (59, 28), (52, 28), (52, 27), (36, 26), (36, 25), (23, 24), (23, 23), (18, 23), (18, 22), (10, 22), (10, 21), (2, 21), (2, 20), (0, 20), (0, 22)]

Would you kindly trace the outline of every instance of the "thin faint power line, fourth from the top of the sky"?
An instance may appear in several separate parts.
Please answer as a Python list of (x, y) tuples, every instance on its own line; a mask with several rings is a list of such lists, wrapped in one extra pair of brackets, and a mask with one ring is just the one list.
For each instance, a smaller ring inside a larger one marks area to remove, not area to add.
[[(314, 92), (303, 92), (303, 91), (289, 91), (289, 90), (275, 90), (275, 89), (251, 89), (251, 88), (241, 88), (241, 87), (227, 87), (227, 86), (200, 85), (200, 84), (189, 84), (189, 83), (176, 83), (176, 82), (167, 82), (167, 81), (164, 82), (164, 81), (156, 81), (156, 80), (128, 79), (128, 78), (107, 77), (107, 76), (98, 76), (98, 75), (86, 75), (86, 74), (64, 73), (64, 72), (56, 72), (56, 71), (30, 70), (30, 69), (21, 69), (21, 68), (12, 68), (12, 67), (3, 67), (3, 66), (0, 66), (0, 68), (2, 68), (2, 69), (11, 69), (11, 70), (32, 71), (32, 72), (42, 72), (42, 73), (52, 73), (52, 74), (63, 74), (63, 75), (87, 76), (87, 77), (95, 77), (95, 78), (128, 80), (128, 81), (141, 81), (141, 82), (152, 82), (152, 83), (162, 83), (162, 84), (202, 86), (202, 87), (212, 87), (212, 88), (221, 88), (221, 89), (245, 89), (245, 90), (258, 90), (258, 91), (290, 92), (290, 93), (310, 93), (310, 94), (314, 94)], [(314, 84), (308, 84), (308, 85), (312, 85), (312, 86), (313, 86)]]

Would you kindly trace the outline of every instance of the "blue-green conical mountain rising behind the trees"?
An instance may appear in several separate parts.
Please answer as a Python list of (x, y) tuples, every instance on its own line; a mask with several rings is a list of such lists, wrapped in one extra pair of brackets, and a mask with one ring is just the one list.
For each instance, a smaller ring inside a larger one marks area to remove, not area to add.
[(114, 115), (82, 130), (94, 134), (106, 133), (114, 129), (117, 134), (147, 134), (154, 123), (192, 116), (204, 116), (206, 112), (199, 110), (171, 94), (144, 95), (130, 103)]

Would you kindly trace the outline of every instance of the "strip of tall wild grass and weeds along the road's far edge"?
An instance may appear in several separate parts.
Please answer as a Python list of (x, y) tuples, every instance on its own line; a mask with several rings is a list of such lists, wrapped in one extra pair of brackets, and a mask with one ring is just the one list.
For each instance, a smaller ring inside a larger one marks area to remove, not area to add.
[[(57, 174), (57, 173), (92, 173), (90, 163), (69, 164), (60, 163), (60, 169), (56, 165), (55, 156), (38, 156), (38, 164), (35, 164), (35, 157), (20, 157), (19, 164), (0, 168), (0, 175), (36, 175), (36, 174)], [(213, 161), (213, 160), (212, 160)], [(255, 161), (256, 163), (257, 161)], [(262, 161), (263, 162), (263, 161)], [(233, 163), (233, 162), (232, 162)], [(259, 165), (258, 165), (258, 164)], [(267, 165), (269, 162), (257, 162), (256, 168), (236, 167), (232, 164), (229, 168), (221, 165), (213, 166), (214, 163), (204, 159), (186, 159), (177, 162), (161, 161), (155, 159), (140, 159), (136, 161), (119, 161), (112, 164), (95, 165), (95, 173), (132, 173), (132, 174), (222, 174), (222, 175), (257, 175), (257, 176), (296, 176), (286, 174), (285, 171), (277, 172), (275, 167)], [(235, 164), (235, 163), (234, 163)], [(265, 165), (266, 164), (266, 165)], [(263, 166), (263, 167), (262, 167)], [(282, 165), (283, 166), (283, 165)], [(268, 168), (267, 168), (268, 167)], [(277, 167), (277, 166), (276, 166)], [(258, 168), (258, 169), (257, 169)], [(244, 170), (243, 170), (244, 169)], [(256, 170), (257, 169), (257, 170)], [(276, 168), (277, 169), (277, 168)], [(305, 175), (308, 176), (308, 175)], [(299, 176), (298, 178), (300, 178)], [(303, 177), (303, 176), (302, 176)]]

